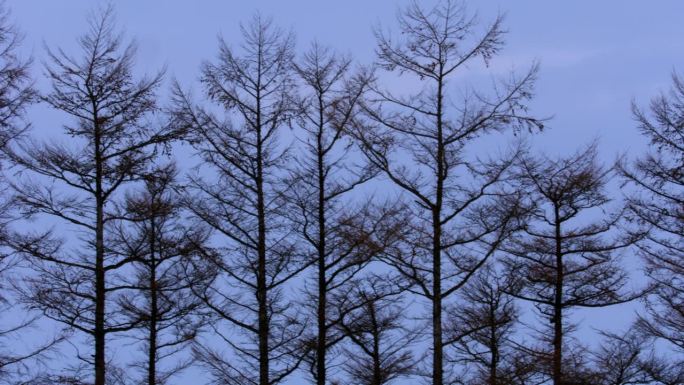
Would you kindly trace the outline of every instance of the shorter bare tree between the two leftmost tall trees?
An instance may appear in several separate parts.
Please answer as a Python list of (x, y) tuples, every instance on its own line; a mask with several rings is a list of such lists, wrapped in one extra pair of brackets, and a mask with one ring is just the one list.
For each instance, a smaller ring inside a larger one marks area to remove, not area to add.
[(117, 226), (111, 241), (112, 254), (134, 258), (135, 272), (121, 278), (134, 290), (117, 301), (132, 323), (140, 320), (135, 338), (143, 342), (146, 360), (134, 366), (145, 373), (140, 382), (148, 385), (166, 384), (191, 364), (176, 358), (201, 326), (202, 303), (191, 287), (211, 276), (201, 262), (191, 261), (208, 232), (182, 222), (180, 197), (173, 191), (176, 173), (170, 163), (144, 177), (144, 190), (127, 196), (121, 210), (127, 221)]

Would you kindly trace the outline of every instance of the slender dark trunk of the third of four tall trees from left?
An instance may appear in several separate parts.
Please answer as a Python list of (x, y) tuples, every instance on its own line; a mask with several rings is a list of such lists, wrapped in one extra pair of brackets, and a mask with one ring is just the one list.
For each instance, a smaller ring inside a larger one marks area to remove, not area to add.
[(318, 339), (316, 341), (316, 384), (326, 382), (326, 350), (327, 350), (327, 284), (326, 284), (326, 243), (325, 243), (325, 170), (323, 154), (323, 100), (318, 98)]

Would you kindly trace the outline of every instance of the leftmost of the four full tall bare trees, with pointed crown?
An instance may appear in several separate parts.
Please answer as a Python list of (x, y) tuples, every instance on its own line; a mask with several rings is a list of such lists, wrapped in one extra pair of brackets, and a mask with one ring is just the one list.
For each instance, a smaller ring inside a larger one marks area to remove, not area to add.
[[(123, 186), (139, 179), (157, 147), (179, 133), (150, 123), (157, 110), (161, 73), (136, 80), (135, 46), (115, 32), (111, 8), (89, 19), (78, 39), (80, 55), (48, 51), (52, 82), (44, 102), (69, 115), (62, 140), (25, 140), (11, 152), (25, 177), (14, 183), (23, 212), (73, 226), (76, 236), (35, 230), (12, 236), (12, 247), (31, 257), (36, 274), (26, 300), (45, 316), (92, 338), (93, 355), (79, 358), (106, 381), (106, 338), (132, 327), (118, 316), (114, 299), (124, 289), (116, 272), (132, 258), (110, 252), (107, 234), (118, 220), (110, 208)], [(80, 242), (79, 242), (80, 241)], [(80, 243), (80, 245), (79, 245)]]

